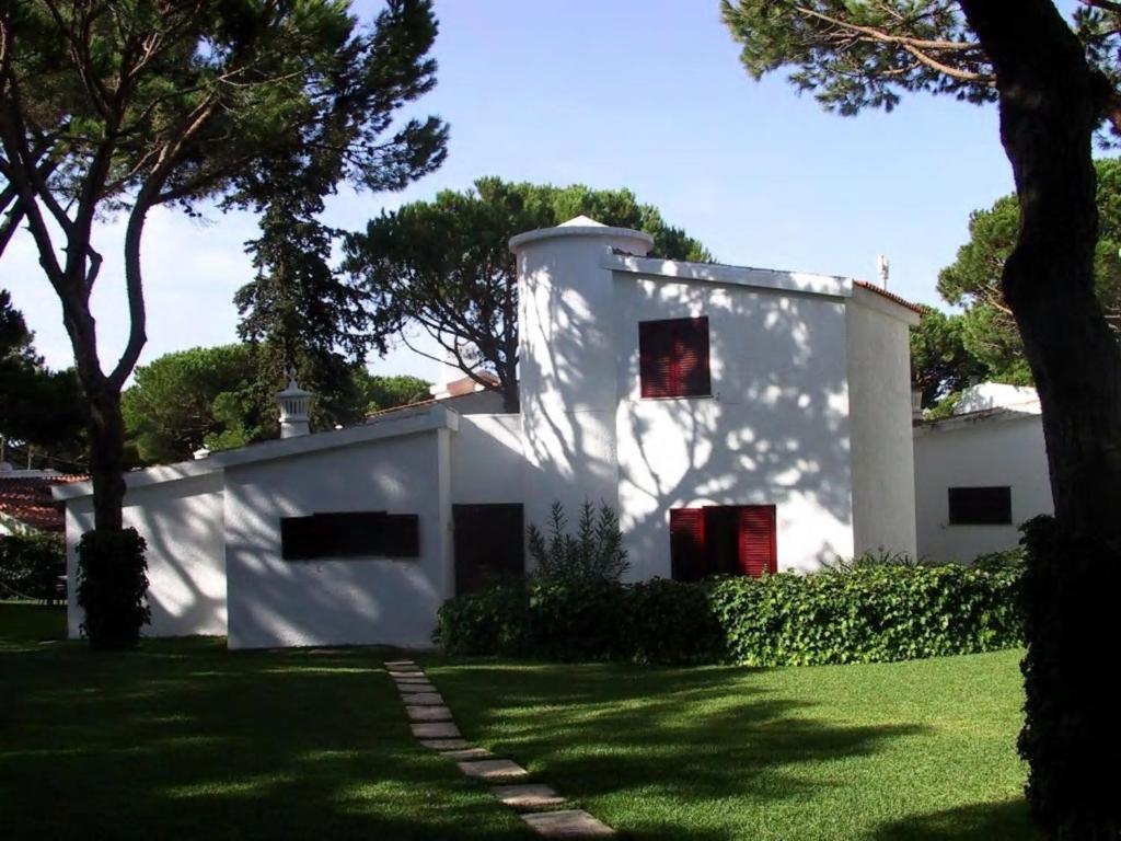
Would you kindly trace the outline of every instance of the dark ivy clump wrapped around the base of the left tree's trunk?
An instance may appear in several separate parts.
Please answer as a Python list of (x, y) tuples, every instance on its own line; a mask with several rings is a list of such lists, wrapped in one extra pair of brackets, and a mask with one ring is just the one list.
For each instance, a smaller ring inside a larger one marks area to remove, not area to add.
[(77, 603), (82, 632), (98, 649), (135, 648), (150, 619), (145, 604), (148, 564), (135, 528), (86, 532), (78, 543)]

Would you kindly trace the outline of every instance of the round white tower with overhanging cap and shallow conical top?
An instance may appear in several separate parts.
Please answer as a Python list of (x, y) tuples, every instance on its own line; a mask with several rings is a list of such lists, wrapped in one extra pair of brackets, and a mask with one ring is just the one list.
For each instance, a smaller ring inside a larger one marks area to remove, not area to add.
[(654, 238), (577, 216), (510, 240), (518, 258), (518, 369), (526, 517), (560, 501), (618, 507), (618, 352), (613, 249), (645, 257)]

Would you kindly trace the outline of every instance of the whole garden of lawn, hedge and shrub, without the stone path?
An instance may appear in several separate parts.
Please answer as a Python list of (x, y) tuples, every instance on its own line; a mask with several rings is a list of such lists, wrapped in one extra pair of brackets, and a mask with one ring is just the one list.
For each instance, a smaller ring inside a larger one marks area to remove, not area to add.
[[(1031, 839), (1013, 556), (619, 583), (610, 511), (414, 654), (471, 743), (623, 838)], [(6, 838), (516, 839), (420, 747), (378, 648), (93, 654), (0, 603)], [(64, 807), (63, 807), (64, 804)]]

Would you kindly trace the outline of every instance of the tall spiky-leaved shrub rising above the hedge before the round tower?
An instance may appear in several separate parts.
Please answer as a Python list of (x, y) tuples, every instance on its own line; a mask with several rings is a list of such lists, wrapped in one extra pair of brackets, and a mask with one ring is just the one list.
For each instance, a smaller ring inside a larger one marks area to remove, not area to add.
[(567, 519), (564, 507), (554, 502), (548, 538), (537, 526), (530, 525), (529, 556), (535, 562), (536, 574), (557, 580), (619, 581), (630, 564), (623, 548), (619, 518), (611, 506), (604, 502), (596, 511), (591, 502), (585, 501), (580, 507), (575, 535), (565, 532)]

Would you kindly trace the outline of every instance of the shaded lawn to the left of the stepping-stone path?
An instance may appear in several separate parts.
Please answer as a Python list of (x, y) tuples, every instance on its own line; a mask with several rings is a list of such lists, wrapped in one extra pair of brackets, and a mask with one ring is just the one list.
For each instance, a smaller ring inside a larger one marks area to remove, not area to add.
[(201, 638), (130, 654), (4, 648), (3, 837), (531, 838), (417, 746), (382, 654), (229, 653)]

